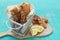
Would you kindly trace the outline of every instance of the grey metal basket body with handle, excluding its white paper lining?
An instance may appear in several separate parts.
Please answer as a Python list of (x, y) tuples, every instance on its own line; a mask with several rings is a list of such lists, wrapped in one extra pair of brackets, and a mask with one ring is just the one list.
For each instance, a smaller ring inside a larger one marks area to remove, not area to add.
[(13, 21), (12, 17), (10, 17), (9, 21), (10, 21), (10, 24), (11, 24), (12, 32), (14, 32), (14, 33), (16, 33), (17, 35), (20, 35), (20, 36), (25, 36), (32, 26), (33, 17), (34, 17), (34, 14), (31, 15), (30, 17), (28, 17), (27, 22), (24, 23), (24, 24), (17, 23), (15, 21)]

